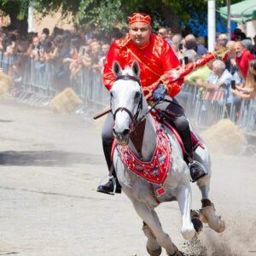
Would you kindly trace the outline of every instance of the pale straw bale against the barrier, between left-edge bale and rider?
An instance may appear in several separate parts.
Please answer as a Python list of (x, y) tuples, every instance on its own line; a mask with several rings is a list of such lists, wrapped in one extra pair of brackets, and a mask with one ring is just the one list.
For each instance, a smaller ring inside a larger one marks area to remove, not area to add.
[(49, 108), (55, 113), (71, 113), (82, 103), (73, 89), (68, 87), (49, 102)]

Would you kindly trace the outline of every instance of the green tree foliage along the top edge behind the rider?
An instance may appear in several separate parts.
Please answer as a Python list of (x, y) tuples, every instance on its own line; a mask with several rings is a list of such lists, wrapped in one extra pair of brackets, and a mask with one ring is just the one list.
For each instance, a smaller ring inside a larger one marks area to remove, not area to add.
[[(232, 3), (240, 1), (232, 0)], [(218, 0), (216, 8), (225, 4), (226, 0)], [(62, 17), (71, 14), (82, 26), (104, 32), (113, 26), (123, 26), (127, 16), (137, 11), (151, 15), (156, 26), (171, 26), (170, 15), (184, 25), (195, 17), (199, 23), (207, 22), (206, 0), (0, 0), (0, 9), (7, 14), (17, 14), (20, 20), (26, 18), (29, 5), (43, 16), (61, 9)]]

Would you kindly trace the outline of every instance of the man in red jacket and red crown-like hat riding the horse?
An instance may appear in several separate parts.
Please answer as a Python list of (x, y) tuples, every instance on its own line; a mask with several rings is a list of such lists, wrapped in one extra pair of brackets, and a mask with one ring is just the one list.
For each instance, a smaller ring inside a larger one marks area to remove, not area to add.
[[(103, 71), (103, 82), (107, 89), (110, 90), (116, 79), (113, 73), (114, 61), (118, 61), (122, 68), (131, 66), (133, 61), (137, 61), (140, 67), (140, 80), (144, 94), (148, 94), (150, 88), (152, 86), (155, 88), (155, 85), (157, 85), (157, 89), (152, 94), (154, 102), (164, 100), (165, 96), (170, 96), (167, 101), (158, 103), (156, 108), (162, 112), (170, 113), (167, 120), (170, 121), (172, 126), (175, 126), (183, 140), (186, 151), (184, 160), (189, 165), (191, 180), (195, 182), (200, 177), (205, 176), (207, 171), (192, 158), (193, 145), (189, 121), (184, 116), (183, 108), (174, 99), (181, 90), (183, 79), (178, 79), (173, 83), (173, 76), (163, 76), (180, 67), (180, 62), (166, 40), (152, 33), (149, 15), (135, 13), (128, 20), (129, 33), (125, 38), (115, 40), (108, 51)], [(111, 159), (112, 144), (113, 113), (108, 113), (102, 129), (102, 145), (109, 171), (113, 165)], [(114, 170), (113, 177), (117, 183), (115, 192), (120, 193), (121, 187)], [(114, 181), (110, 178), (108, 183), (100, 185), (97, 191), (108, 194), (113, 192), (113, 187)]]

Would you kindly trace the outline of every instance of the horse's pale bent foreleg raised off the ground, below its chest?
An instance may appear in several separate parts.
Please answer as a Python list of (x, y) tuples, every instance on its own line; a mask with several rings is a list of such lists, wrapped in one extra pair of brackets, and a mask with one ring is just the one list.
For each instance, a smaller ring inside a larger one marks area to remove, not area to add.
[(184, 239), (191, 239), (195, 236), (195, 229), (190, 217), (192, 193), (189, 183), (182, 184), (179, 187), (179, 189), (177, 190), (177, 201), (182, 215), (181, 233)]

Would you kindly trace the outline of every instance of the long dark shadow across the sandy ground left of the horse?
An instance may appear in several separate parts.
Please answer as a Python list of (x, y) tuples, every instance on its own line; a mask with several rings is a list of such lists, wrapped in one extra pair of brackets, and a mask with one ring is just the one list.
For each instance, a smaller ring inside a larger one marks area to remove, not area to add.
[(65, 151), (3, 151), (0, 166), (71, 166), (102, 164), (102, 156)]

